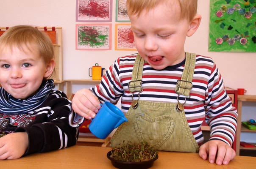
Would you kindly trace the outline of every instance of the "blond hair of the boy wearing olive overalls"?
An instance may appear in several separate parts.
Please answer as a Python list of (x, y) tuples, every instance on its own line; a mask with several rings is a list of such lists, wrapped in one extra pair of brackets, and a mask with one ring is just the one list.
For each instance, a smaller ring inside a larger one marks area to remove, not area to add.
[[(127, 0), (126, 6), (128, 14), (139, 16), (143, 10), (147, 12), (155, 8), (157, 5), (168, 2), (169, 0)], [(197, 14), (197, 0), (177, 0), (181, 7), (181, 18), (191, 21)]]

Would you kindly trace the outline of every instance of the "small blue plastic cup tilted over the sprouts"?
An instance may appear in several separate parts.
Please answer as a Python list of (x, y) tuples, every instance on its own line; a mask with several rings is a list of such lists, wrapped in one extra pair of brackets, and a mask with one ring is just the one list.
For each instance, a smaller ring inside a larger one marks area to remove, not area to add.
[(106, 101), (92, 119), (89, 130), (97, 138), (106, 139), (115, 128), (127, 121), (127, 118), (117, 106)]

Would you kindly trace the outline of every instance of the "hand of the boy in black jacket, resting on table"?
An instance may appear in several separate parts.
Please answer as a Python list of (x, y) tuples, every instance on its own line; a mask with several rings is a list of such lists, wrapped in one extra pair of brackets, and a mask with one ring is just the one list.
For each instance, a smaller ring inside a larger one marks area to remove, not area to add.
[(0, 160), (20, 158), (27, 148), (27, 132), (7, 134), (0, 138)]

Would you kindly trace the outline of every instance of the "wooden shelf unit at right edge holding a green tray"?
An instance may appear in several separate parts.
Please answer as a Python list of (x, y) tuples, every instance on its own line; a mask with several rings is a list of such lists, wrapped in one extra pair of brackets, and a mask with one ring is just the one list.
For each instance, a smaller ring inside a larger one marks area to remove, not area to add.
[[(242, 103), (245, 102), (245, 101), (256, 102), (256, 95), (238, 95), (237, 150), (236, 150), (237, 155), (240, 154), (240, 150), (255, 150), (256, 151), (256, 147), (247, 148), (247, 147), (240, 146), (241, 132), (252, 132), (252, 133), (256, 134), (256, 130), (249, 130), (248, 128), (245, 128), (242, 125), (242, 119), (241, 119), (242, 118)], [(253, 143), (253, 144), (256, 144), (256, 143)]]

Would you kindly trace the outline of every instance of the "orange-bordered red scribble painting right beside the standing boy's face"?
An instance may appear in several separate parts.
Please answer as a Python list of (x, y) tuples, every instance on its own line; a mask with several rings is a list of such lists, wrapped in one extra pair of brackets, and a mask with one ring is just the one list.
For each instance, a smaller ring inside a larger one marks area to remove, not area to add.
[(131, 24), (116, 24), (116, 50), (136, 50)]

